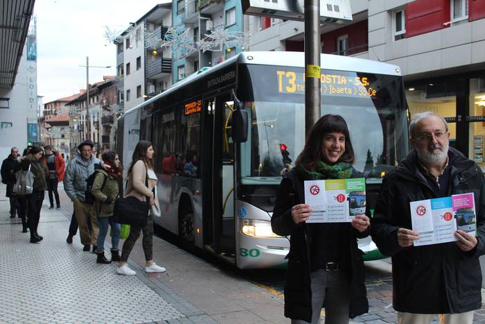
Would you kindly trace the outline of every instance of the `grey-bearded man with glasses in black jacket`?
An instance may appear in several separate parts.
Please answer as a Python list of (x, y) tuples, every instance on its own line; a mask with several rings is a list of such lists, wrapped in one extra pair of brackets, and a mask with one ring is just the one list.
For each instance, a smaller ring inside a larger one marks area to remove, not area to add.
[[(371, 221), (380, 251), (392, 257), (393, 306), (398, 323), (472, 323), (482, 307), (480, 255), (485, 254), (485, 181), (482, 170), (449, 148), (448, 124), (432, 112), (416, 114), (409, 124), (414, 148), (382, 182)], [(477, 236), (457, 230), (457, 241), (414, 246), (409, 203), (452, 194), (473, 193)]]

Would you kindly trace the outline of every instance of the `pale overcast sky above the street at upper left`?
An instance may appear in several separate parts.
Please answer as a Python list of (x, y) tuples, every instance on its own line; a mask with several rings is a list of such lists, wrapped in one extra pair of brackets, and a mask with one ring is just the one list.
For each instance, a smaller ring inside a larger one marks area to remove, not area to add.
[(108, 44), (105, 26), (124, 31), (157, 3), (167, 0), (37, 0), (37, 94), (47, 103), (86, 89), (89, 83), (116, 75), (116, 47)]

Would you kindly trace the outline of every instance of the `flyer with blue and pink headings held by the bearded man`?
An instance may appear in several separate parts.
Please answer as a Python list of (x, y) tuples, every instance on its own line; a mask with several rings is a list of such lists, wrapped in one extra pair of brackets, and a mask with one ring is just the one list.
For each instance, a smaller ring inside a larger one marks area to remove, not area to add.
[(412, 229), (419, 233), (414, 246), (457, 241), (455, 231), (476, 235), (475, 200), (472, 194), (412, 201)]

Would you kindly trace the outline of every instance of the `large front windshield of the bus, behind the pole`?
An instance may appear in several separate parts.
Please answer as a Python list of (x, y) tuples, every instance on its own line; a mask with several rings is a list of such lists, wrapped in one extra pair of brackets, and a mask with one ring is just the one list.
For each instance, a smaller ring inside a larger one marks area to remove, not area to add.
[[(241, 144), (242, 184), (279, 184), (305, 143), (303, 68), (247, 65), (243, 90), (251, 121)], [(241, 85), (239, 85), (241, 87)], [(408, 152), (403, 80), (399, 76), (321, 70), (321, 115), (349, 126), (355, 169), (382, 178)]]

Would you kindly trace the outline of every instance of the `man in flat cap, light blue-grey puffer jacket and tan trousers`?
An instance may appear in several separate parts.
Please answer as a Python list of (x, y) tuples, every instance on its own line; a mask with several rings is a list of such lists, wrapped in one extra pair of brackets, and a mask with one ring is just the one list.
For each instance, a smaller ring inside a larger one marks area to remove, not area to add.
[[(82, 250), (89, 251), (92, 244), (93, 253), (95, 253), (99, 232), (98, 221), (93, 206), (85, 202), (86, 179), (94, 173), (95, 164), (100, 163), (100, 160), (91, 154), (93, 146), (93, 142), (89, 139), (78, 146), (80, 153), (69, 163), (64, 176), (64, 191), (73, 201), (74, 215), (78, 221), (79, 235), (84, 246)], [(91, 230), (88, 226), (89, 221), (91, 221)], [(70, 227), (67, 237), (68, 243), (72, 241), (72, 236)]]

